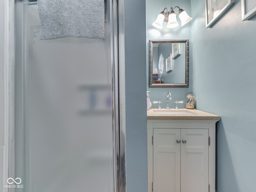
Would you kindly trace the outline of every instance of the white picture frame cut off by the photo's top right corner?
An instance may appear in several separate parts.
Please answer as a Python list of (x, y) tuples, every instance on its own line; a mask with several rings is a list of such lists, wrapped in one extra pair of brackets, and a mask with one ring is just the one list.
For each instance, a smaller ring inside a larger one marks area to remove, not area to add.
[(255, 0), (241, 0), (242, 21), (249, 20), (256, 14)]

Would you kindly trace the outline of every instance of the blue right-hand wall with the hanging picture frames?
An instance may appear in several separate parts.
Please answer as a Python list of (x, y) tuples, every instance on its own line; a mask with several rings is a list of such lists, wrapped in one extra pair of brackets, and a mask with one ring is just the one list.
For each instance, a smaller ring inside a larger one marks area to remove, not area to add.
[(216, 130), (216, 190), (256, 191), (256, 16), (242, 21), (241, 1), (236, 0), (206, 29), (204, 0), (191, 3), (196, 106), (221, 116)]

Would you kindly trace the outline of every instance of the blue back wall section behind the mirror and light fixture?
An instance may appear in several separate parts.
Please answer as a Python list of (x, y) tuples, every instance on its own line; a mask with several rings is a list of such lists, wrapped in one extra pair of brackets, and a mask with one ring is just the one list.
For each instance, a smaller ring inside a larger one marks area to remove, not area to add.
[[(191, 40), (191, 22), (187, 23), (183, 27), (180, 25), (176, 28), (168, 29), (166, 28), (166, 22), (163, 24), (162, 29), (155, 28), (152, 26), (154, 20), (156, 20), (157, 15), (164, 10), (165, 7), (174, 8), (179, 6), (180, 8), (186, 10), (188, 15), (191, 15), (190, 0), (146, 0), (146, 67), (147, 67), (147, 90), (150, 91), (150, 101), (162, 101), (162, 107), (166, 105), (166, 95), (167, 92), (171, 92), (172, 101), (170, 102), (170, 107), (174, 108), (175, 101), (184, 101), (184, 104), (179, 104), (180, 108), (185, 108), (186, 94), (192, 93), (193, 80), (192, 72), (189, 72), (189, 87), (188, 88), (149, 88), (148, 87), (148, 41), (155, 39), (188, 39)], [(175, 8), (174, 11), (178, 14), (178, 8)], [(179, 18), (177, 18), (178, 23), (180, 24)], [(189, 56), (189, 70), (192, 71), (192, 57)], [(153, 104), (153, 108), (157, 108), (158, 104)]]

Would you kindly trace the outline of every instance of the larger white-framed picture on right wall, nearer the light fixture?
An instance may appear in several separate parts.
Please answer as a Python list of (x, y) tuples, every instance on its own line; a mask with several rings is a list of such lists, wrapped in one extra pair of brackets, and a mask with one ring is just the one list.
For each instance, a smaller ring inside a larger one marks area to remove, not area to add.
[(206, 28), (210, 28), (234, 3), (235, 0), (205, 0)]

